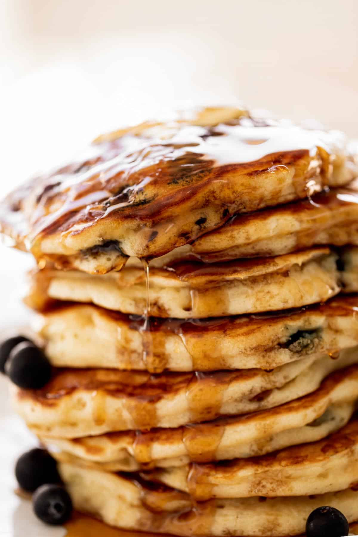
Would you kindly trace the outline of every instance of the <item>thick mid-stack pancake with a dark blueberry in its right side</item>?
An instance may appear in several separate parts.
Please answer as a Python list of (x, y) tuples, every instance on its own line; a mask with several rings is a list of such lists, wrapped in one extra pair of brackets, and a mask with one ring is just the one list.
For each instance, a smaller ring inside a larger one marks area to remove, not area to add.
[(211, 320), (151, 318), (151, 352), (143, 319), (89, 304), (67, 303), (38, 314), (34, 330), (56, 367), (162, 371), (272, 369), (318, 353), (358, 345), (358, 296), (301, 310)]

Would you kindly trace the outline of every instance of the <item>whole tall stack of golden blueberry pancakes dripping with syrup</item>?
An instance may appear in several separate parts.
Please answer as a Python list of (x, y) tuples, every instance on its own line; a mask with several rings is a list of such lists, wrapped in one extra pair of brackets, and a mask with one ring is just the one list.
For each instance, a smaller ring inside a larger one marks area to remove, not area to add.
[(13, 401), (78, 511), (184, 536), (358, 520), (356, 177), (339, 132), (206, 108), (6, 198), (53, 365)]

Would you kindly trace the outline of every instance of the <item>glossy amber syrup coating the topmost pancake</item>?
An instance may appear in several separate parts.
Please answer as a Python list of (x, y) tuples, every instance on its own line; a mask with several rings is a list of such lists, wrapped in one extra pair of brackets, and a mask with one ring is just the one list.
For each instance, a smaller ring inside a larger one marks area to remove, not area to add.
[[(353, 172), (348, 173), (345, 165), (345, 140), (340, 133), (304, 129), (287, 122), (260, 122), (243, 118), (243, 115), (246, 114), (240, 112), (236, 121), (227, 124), (220, 122), (218, 117), (215, 126), (210, 127), (179, 122), (158, 124), (156, 130), (147, 125), (138, 132), (135, 129), (122, 132), (117, 139), (104, 137), (92, 148), (90, 158), (35, 178), (11, 194), (1, 214), (4, 231), (16, 237), (19, 245), (26, 243), (36, 259), (45, 255), (64, 266), (64, 258), (81, 257), (82, 250), (78, 249), (81, 244), (86, 255), (92, 256), (89, 250), (92, 247), (96, 250), (99, 245), (86, 239), (86, 228), (97, 223), (102, 226), (100, 220), (112, 219), (115, 212), (115, 219), (119, 223), (125, 219), (133, 231), (135, 225), (135, 233), (140, 237), (134, 246), (129, 244), (126, 235), (120, 238), (123, 258), (116, 262), (122, 265), (126, 255), (158, 256), (165, 253), (165, 248), (169, 251), (189, 243), (224, 224), (235, 212), (255, 211), (267, 204), (304, 198), (307, 194), (311, 197), (331, 183), (335, 172), (338, 176), (341, 172), (346, 174), (347, 180), (348, 176), (353, 177)], [(289, 178), (289, 165), (297, 159), (305, 161), (303, 173)], [(262, 195), (265, 198), (265, 191), (261, 195), (254, 188), (244, 199), (240, 193), (245, 188), (240, 187), (235, 192), (235, 189), (227, 188), (228, 166), (242, 169), (244, 176), (258, 172), (260, 177), (259, 172), (264, 172), (266, 177), (271, 171), (279, 176), (277, 179), (282, 175), (283, 180), (285, 176), (295, 192), (278, 199), (277, 193), (274, 196), (271, 193), (270, 197), (266, 189), (265, 201), (261, 199)], [(195, 201), (197, 192), (202, 200), (215, 198), (209, 191), (205, 197), (201, 189), (216, 182), (224, 183), (223, 212), (218, 211), (216, 203), (216, 220), (208, 222), (206, 228), (194, 225), (197, 220), (207, 220), (204, 217), (206, 205), (200, 209), (190, 200)], [(178, 206), (185, 207), (195, 216), (193, 226), (179, 224)], [(27, 232), (21, 222), (19, 227), (14, 224), (13, 215), (23, 222)], [(22, 219), (18, 218), (21, 215)], [(140, 233), (138, 219), (143, 224)], [(173, 223), (174, 229), (165, 236), (164, 230)], [(68, 248), (68, 237), (84, 231), (84, 241)], [(60, 235), (61, 248), (48, 254), (42, 251), (41, 244), (43, 238), (53, 233)], [(71, 261), (67, 259), (67, 263), (71, 264)]]

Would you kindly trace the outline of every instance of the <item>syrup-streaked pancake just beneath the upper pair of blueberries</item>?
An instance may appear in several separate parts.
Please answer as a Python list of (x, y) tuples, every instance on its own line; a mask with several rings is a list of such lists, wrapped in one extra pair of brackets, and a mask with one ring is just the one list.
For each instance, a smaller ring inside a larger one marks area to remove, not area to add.
[[(328, 374), (356, 362), (358, 349), (335, 360), (327, 355), (297, 360), (271, 372), (244, 369), (151, 375), (113, 369), (57, 369), (45, 387), (28, 394), (20, 391), (18, 398), (19, 404), (30, 400), (31, 420), (60, 437), (69, 432), (93, 436), (179, 427), (277, 407), (315, 391)], [(74, 421), (78, 431), (68, 426)]]

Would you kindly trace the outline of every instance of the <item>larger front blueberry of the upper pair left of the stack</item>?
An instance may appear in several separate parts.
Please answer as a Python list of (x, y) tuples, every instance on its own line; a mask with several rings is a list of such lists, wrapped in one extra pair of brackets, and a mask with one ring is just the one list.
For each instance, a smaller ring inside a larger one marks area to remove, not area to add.
[(51, 378), (50, 362), (31, 342), (19, 343), (12, 349), (5, 371), (14, 384), (25, 389), (42, 388)]

